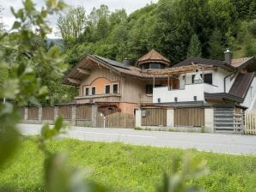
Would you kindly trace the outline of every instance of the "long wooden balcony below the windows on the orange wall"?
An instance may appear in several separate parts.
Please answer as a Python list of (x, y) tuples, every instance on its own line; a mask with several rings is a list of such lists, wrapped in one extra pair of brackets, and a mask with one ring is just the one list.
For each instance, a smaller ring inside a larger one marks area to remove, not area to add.
[(77, 103), (95, 103), (95, 102), (120, 102), (121, 94), (95, 94), (88, 96), (78, 96), (75, 98)]

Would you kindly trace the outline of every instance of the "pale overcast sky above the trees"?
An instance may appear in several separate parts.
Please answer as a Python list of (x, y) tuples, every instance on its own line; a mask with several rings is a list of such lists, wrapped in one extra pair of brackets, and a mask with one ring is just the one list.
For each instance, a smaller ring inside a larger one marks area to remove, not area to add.
[[(106, 4), (108, 8), (113, 11), (115, 9), (125, 9), (128, 14), (133, 11), (143, 8), (146, 4), (157, 3), (158, 0), (64, 0), (65, 3), (70, 6), (76, 7), (77, 5), (82, 5), (87, 14), (95, 7), (99, 8), (101, 4)], [(44, 4), (43, 0), (34, 0), (37, 9), (40, 9)], [(2, 19), (3, 23), (7, 29), (12, 27), (15, 21), (14, 16), (10, 12), (10, 7), (15, 10), (20, 9), (22, 6), (21, 0), (0, 0), (0, 5), (3, 7)], [(58, 15), (49, 17), (49, 24), (52, 27), (53, 33), (48, 35), (49, 38), (58, 38), (58, 29), (56, 27)]]

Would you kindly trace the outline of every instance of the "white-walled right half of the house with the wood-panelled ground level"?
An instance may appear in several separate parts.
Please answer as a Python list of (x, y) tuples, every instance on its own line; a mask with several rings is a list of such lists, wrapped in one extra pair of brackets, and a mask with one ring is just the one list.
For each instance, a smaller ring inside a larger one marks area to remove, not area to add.
[(167, 87), (153, 88), (153, 103), (173, 114), (169, 125), (205, 127), (210, 123), (215, 131), (242, 130), (244, 111), (255, 108), (256, 60), (232, 59), (229, 49), (224, 54), (224, 61), (192, 57), (151, 72), (179, 81), (179, 87), (171, 81)]

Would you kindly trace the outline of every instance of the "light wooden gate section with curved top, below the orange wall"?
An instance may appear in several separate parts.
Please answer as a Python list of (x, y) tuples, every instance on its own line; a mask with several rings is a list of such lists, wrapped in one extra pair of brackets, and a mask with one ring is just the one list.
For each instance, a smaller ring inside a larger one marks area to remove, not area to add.
[[(105, 117), (106, 128), (134, 128), (135, 117), (131, 114), (115, 112)], [(97, 113), (96, 127), (104, 127), (104, 116), (100, 112)]]

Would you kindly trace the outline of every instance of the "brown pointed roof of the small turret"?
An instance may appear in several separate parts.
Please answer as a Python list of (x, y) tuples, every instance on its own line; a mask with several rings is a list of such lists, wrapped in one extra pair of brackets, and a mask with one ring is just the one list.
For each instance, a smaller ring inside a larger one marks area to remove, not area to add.
[(163, 57), (159, 52), (155, 50), (151, 50), (143, 57), (140, 57), (137, 60), (137, 65), (141, 65), (143, 63), (149, 63), (149, 62), (163, 63), (168, 66), (170, 65), (170, 60), (168, 60), (168, 58), (166, 57)]

